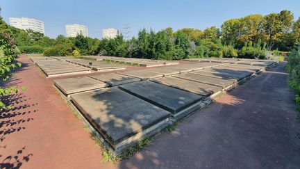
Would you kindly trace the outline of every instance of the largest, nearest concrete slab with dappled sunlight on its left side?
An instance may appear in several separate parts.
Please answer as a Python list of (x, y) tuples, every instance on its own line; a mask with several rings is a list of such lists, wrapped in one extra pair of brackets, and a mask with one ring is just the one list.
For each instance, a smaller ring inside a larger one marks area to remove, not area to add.
[(71, 95), (92, 126), (116, 149), (117, 144), (142, 138), (143, 131), (169, 118), (170, 113), (118, 88)]

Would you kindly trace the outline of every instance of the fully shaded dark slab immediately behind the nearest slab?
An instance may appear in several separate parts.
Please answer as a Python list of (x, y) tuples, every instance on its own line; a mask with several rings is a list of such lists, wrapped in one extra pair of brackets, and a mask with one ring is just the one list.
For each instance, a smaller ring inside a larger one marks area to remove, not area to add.
[(203, 99), (200, 95), (151, 81), (128, 83), (119, 88), (174, 115)]

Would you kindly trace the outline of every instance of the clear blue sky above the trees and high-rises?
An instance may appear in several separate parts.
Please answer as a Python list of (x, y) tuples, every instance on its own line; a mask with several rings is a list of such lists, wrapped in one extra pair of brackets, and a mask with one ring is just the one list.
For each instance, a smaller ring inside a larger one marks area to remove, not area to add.
[(102, 29), (124, 31), (128, 24), (131, 35), (142, 28), (158, 31), (171, 26), (206, 29), (221, 26), (226, 19), (250, 14), (278, 13), (287, 9), (300, 17), (299, 0), (1, 0), (1, 16), (31, 17), (44, 22), (45, 33), (51, 38), (65, 35), (65, 24), (84, 24), (92, 38), (101, 38)]

